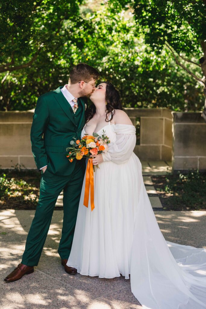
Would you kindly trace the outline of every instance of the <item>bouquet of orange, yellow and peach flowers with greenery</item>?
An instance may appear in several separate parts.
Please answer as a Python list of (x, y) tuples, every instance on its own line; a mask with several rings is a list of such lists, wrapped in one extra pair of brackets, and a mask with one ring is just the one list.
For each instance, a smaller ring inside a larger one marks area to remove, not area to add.
[[(110, 140), (103, 130), (102, 136), (99, 136), (97, 133), (93, 135), (85, 134), (81, 141), (73, 138), (74, 141), (70, 142), (71, 147), (67, 147), (66, 151), (69, 152), (66, 155), (69, 158), (69, 162), (73, 162), (74, 158), (81, 160), (83, 157), (90, 159), (90, 155), (98, 155), (102, 152), (106, 153), (108, 150), (108, 144)], [(99, 168), (99, 165), (96, 165)], [(95, 171), (95, 166), (93, 165)]]

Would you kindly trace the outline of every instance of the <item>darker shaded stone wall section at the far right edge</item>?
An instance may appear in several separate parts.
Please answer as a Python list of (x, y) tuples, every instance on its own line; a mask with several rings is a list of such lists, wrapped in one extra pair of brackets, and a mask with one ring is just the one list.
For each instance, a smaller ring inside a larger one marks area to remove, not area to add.
[(173, 170), (206, 170), (206, 123), (201, 112), (172, 112)]

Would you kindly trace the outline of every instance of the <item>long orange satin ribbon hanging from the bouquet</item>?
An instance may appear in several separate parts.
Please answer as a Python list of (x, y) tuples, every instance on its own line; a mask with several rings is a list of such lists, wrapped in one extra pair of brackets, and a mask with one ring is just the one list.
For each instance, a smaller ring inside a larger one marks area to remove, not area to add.
[(84, 192), (84, 206), (88, 207), (89, 203), (89, 191), (90, 191), (90, 204), (91, 211), (95, 208), (94, 204), (94, 171), (92, 159), (89, 159), (86, 168), (86, 183)]

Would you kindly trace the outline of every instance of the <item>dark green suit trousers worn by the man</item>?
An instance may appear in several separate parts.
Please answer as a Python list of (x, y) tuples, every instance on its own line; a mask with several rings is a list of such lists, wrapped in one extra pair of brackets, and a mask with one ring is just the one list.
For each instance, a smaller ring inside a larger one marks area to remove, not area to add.
[(62, 189), (64, 190), (64, 218), (58, 253), (61, 259), (69, 258), (74, 237), (74, 229), (77, 220), (84, 173), (85, 164), (81, 161), (76, 163), (74, 171), (68, 176), (55, 175), (47, 169), (44, 173), (42, 171), (39, 203), (27, 236), (26, 247), (21, 262), (22, 264), (28, 266), (38, 265), (52, 220), (53, 210)]

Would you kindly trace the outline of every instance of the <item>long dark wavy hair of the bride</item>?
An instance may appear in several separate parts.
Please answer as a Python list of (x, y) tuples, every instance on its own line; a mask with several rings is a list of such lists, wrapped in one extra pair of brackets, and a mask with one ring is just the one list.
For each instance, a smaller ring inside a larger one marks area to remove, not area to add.
[[(112, 85), (112, 83), (110, 82), (102, 82), (104, 84), (107, 84), (106, 86), (106, 92), (105, 92), (105, 99), (106, 99), (106, 122), (108, 122), (109, 120), (107, 119), (107, 116), (111, 113), (111, 119), (110, 121), (113, 119), (114, 113), (112, 113), (113, 109), (121, 109), (122, 108), (122, 104), (121, 104), (121, 100), (120, 100), (120, 94), (119, 91), (114, 87), (114, 85)], [(86, 112), (86, 123), (94, 116), (96, 112), (96, 107), (95, 104), (91, 104), (90, 108), (88, 108), (87, 112)]]

